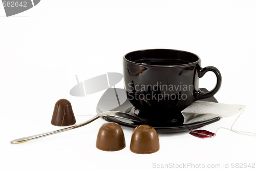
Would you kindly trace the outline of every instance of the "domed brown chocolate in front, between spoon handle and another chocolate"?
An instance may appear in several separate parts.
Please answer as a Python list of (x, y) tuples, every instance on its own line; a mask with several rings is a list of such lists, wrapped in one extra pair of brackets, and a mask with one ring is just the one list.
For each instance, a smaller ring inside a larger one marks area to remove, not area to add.
[(119, 151), (125, 148), (123, 130), (117, 123), (108, 123), (100, 127), (96, 147), (102, 151)]

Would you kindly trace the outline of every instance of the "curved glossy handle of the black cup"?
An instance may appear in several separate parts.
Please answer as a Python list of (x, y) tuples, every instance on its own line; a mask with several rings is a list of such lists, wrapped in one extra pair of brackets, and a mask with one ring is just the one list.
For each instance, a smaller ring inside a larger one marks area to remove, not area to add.
[(208, 66), (208, 67), (204, 67), (203, 69), (200, 69), (198, 71), (199, 78), (202, 78), (205, 75), (205, 73), (208, 71), (212, 71), (215, 73), (215, 75), (217, 77), (217, 84), (216, 84), (215, 88), (210, 90), (209, 92), (203, 92), (200, 89), (198, 89), (198, 91), (196, 91), (196, 100), (201, 100), (201, 99), (210, 98), (211, 96), (214, 96), (214, 94), (217, 93), (217, 91), (221, 87), (221, 81), (222, 81), (221, 73), (218, 70), (218, 68), (216, 68), (214, 66)]

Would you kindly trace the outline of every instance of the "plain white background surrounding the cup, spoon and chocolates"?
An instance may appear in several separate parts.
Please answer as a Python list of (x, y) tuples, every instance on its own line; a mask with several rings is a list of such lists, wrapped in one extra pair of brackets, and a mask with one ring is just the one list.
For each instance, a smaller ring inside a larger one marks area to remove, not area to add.
[[(124, 54), (146, 48), (171, 48), (199, 55), (215, 66), (223, 82), (220, 103), (244, 104), (235, 130), (256, 132), (255, 1), (41, 1), (6, 17), (0, 5), (1, 163), (3, 169), (151, 169), (156, 164), (256, 163), (256, 137), (221, 129), (214, 138), (187, 132), (159, 134), (160, 150), (130, 151), (132, 128), (123, 127), (126, 148), (104, 152), (95, 147), (98, 119), (72, 131), (9, 144), (19, 137), (60, 129), (51, 125), (54, 104), (68, 99), (77, 123), (96, 114), (104, 91), (86, 97), (69, 94), (79, 81), (122, 73)], [(212, 88), (214, 74), (200, 79)], [(123, 81), (116, 85), (123, 87)], [(88, 116), (78, 116), (88, 115)], [(202, 129), (230, 128), (238, 115)], [(254, 166), (256, 168), (256, 165)], [(1, 168), (2, 169), (2, 168)], [(180, 168), (181, 169), (181, 168)]]

